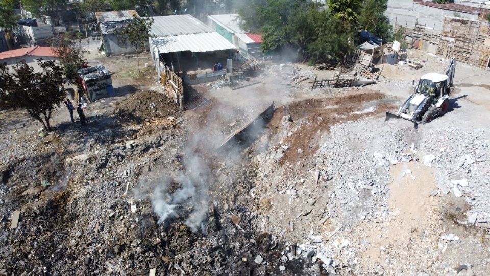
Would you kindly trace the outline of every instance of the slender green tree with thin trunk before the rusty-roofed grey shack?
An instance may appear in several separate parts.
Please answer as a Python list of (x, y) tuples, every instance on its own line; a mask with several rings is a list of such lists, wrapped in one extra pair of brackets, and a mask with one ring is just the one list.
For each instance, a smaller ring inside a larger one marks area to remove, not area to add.
[(122, 43), (129, 43), (131, 48), (136, 52), (138, 60), (138, 73), (141, 73), (139, 68), (139, 52), (146, 49), (146, 42), (151, 37), (150, 30), (152, 29), (153, 18), (140, 18), (133, 15), (131, 22), (124, 26), (120, 31), (117, 31), (117, 37)]

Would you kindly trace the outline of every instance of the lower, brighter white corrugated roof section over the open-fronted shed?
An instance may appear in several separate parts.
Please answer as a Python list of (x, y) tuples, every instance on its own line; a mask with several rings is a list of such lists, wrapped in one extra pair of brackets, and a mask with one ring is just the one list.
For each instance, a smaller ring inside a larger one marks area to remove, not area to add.
[(151, 38), (152, 47), (160, 54), (191, 51), (192, 53), (235, 49), (216, 32)]

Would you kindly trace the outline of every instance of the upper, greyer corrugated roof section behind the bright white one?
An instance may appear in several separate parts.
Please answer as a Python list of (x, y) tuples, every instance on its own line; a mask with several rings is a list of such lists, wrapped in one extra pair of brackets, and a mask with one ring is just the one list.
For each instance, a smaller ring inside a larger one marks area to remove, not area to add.
[(212, 32), (208, 26), (189, 14), (155, 16), (151, 34), (154, 37)]

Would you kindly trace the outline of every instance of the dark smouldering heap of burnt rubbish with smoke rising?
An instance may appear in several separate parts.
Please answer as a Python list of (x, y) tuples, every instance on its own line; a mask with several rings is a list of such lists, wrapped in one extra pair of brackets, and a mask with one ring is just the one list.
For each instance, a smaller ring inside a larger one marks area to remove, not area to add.
[(219, 123), (189, 128), (148, 95), (102, 110), (132, 117), (99, 136), (29, 136), (36, 157), (2, 163), (0, 273), (303, 273), (294, 246), (255, 226), (255, 146), (218, 155)]

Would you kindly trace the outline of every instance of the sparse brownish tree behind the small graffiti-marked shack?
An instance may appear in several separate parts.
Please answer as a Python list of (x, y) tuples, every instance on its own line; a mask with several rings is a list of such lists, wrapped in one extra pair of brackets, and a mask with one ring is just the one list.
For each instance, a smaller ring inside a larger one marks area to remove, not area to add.
[(80, 86), (78, 70), (83, 61), (83, 54), (87, 53), (81, 47), (80, 41), (74, 42), (58, 35), (51, 38), (50, 45), (58, 56), (66, 81)]

